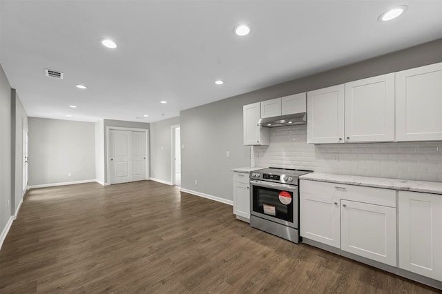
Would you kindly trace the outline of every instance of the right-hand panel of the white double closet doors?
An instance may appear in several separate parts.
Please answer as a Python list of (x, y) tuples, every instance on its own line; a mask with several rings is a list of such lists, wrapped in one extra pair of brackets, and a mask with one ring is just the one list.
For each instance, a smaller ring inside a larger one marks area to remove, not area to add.
[(146, 133), (132, 132), (132, 181), (146, 179)]

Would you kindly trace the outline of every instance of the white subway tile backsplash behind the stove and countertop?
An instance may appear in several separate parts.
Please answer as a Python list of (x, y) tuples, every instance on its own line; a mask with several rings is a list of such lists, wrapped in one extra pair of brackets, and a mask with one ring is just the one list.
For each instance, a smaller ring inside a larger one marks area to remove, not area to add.
[(307, 144), (307, 125), (271, 128), (269, 146), (251, 146), (251, 166), (442, 182), (442, 141)]

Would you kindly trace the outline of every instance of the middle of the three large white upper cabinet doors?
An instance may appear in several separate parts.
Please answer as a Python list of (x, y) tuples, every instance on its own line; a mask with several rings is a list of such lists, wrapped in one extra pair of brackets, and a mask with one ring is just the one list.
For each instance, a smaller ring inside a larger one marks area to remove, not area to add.
[(345, 141), (394, 141), (394, 73), (345, 84)]

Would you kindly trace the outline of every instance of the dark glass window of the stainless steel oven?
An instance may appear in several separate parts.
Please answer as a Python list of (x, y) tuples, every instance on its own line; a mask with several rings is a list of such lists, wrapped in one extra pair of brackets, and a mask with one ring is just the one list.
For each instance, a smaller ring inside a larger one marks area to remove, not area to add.
[[(293, 201), (287, 205), (282, 204), (279, 199), (281, 192), (282, 190), (253, 186), (253, 211), (293, 222)], [(293, 192), (287, 193), (294, 199)]]

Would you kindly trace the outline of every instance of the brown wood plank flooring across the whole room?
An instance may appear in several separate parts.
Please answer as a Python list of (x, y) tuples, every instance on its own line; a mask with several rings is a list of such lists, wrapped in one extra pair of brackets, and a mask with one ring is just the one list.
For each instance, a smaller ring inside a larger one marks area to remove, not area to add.
[(441, 293), (237, 220), (157, 182), (28, 191), (0, 293)]

